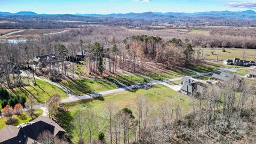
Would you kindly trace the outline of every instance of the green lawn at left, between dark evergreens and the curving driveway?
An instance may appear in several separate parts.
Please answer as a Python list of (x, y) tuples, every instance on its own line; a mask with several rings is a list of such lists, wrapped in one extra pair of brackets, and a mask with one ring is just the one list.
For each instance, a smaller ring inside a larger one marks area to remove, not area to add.
[[(24, 80), (26, 82), (26, 80)], [(65, 99), (68, 97), (68, 94), (61, 90), (58, 86), (49, 84), (40, 79), (36, 79), (36, 84), (30, 82), (29, 86), (16, 87), (14, 89), (9, 89), (12, 94), (24, 95), (28, 97), (28, 95), (33, 95), (38, 103), (43, 103), (47, 101), (53, 94), (59, 94), (61, 99)]]

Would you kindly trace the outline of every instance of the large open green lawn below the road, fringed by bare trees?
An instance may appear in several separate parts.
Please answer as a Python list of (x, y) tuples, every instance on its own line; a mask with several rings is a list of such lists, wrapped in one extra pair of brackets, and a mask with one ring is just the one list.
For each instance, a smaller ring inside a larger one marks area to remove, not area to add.
[[(102, 122), (99, 124), (99, 129), (97, 129), (96, 134), (98, 134), (99, 131), (105, 132), (106, 135), (106, 119), (103, 118), (103, 111), (105, 111), (106, 103), (109, 101), (112, 101), (115, 103), (117, 108), (119, 110), (123, 108), (129, 108), (135, 113), (135, 100), (140, 96), (144, 95), (151, 103), (150, 109), (152, 110), (152, 113), (156, 114), (157, 112), (157, 106), (161, 104), (161, 102), (170, 100), (173, 103), (181, 102), (182, 105), (182, 111), (186, 113), (189, 113), (191, 111), (191, 101), (195, 100), (193, 98), (187, 97), (186, 95), (183, 95), (179, 92), (173, 91), (169, 87), (166, 87), (164, 85), (155, 85), (151, 89), (148, 90), (134, 90), (134, 91), (124, 91), (119, 92), (116, 94), (112, 94), (108, 97), (103, 97), (102, 99), (93, 100), (93, 101), (86, 101), (82, 103), (74, 103), (74, 104), (66, 104), (66, 106), (69, 108), (70, 111), (70, 117), (73, 117), (76, 110), (78, 108), (85, 108), (85, 109), (91, 109), (95, 111), (96, 114), (98, 114), (100, 119), (102, 119)], [(183, 113), (185, 114), (185, 113)], [(134, 114), (136, 117), (136, 115)], [(69, 118), (69, 121), (71, 119)], [(70, 125), (69, 122), (65, 123), (67, 125)], [(64, 127), (66, 127), (64, 125)], [(75, 138), (72, 139), (75, 142)]]

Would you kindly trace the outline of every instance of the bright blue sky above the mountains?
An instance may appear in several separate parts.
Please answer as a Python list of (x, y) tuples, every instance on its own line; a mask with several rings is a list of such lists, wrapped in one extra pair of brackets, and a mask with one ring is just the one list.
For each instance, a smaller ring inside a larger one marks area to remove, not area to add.
[(256, 10), (256, 0), (0, 0), (0, 11), (46, 14)]

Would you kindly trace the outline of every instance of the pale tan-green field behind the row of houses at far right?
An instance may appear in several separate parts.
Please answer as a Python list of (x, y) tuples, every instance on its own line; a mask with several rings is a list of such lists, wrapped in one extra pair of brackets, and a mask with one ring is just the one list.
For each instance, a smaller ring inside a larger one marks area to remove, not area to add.
[[(194, 48), (197, 49), (197, 48)], [(234, 59), (239, 58), (243, 59), (243, 49), (234, 49), (234, 48), (225, 48), (226, 52), (222, 52), (221, 48), (202, 48), (206, 52), (205, 59), (210, 60), (217, 60), (217, 51), (219, 53), (219, 60), (226, 60), (226, 59)], [(214, 52), (212, 54), (211, 52)], [(256, 49), (247, 49), (247, 60), (255, 60), (256, 58)]]

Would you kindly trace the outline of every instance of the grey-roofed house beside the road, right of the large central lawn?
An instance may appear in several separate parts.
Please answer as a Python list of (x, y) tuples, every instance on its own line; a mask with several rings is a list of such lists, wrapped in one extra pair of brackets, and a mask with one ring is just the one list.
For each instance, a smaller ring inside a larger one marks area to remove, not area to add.
[(181, 79), (182, 87), (180, 92), (186, 95), (193, 95), (194, 97), (198, 97), (198, 95), (203, 94), (205, 90), (204, 84), (195, 81), (194, 79), (190, 79), (189, 77), (183, 77)]

